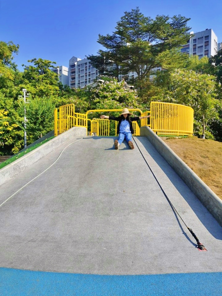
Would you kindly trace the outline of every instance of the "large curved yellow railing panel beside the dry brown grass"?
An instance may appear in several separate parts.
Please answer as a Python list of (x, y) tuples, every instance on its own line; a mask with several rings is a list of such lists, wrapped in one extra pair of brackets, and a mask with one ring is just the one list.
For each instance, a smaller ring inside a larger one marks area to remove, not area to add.
[(162, 102), (151, 102), (151, 129), (162, 135), (192, 136), (194, 110), (191, 107)]

